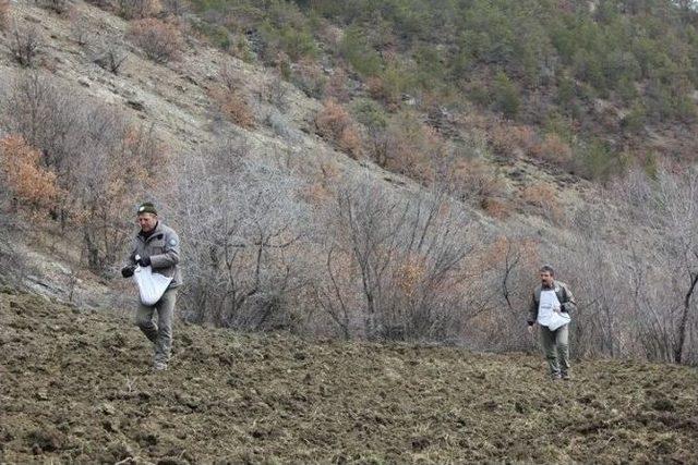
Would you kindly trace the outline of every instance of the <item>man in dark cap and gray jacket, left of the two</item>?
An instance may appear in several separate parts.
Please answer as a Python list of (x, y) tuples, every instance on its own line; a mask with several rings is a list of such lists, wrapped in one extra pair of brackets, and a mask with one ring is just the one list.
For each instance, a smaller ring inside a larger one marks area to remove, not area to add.
[[(182, 284), (179, 270), (179, 236), (158, 220), (157, 210), (151, 203), (139, 207), (137, 221), (141, 231), (133, 240), (127, 266), (121, 269), (124, 278), (133, 276), (135, 266), (152, 267), (153, 272), (172, 278), (163, 297), (153, 306), (140, 304), (135, 322), (141, 331), (155, 344), (153, 367), (156, 370), (167, 369), (172, 347), (172, 320), (177, 289)], [(137, 257), (137, 258), (136, 258)], [(153, 322), (153, 314), (157, 311), (157, 325)]]

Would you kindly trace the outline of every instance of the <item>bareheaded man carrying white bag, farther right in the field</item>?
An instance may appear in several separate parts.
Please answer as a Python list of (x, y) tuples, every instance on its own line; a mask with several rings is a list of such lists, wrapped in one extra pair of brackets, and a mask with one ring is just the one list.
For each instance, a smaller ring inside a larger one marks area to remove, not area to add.
[(555, 280), (551, 266), (542, 267), (540, 273), (541, 284), (533, 291), (529, 307), (528, 331), (533, 334), (533, 325), (539, 323), (552, 378), (569, 379), (569, 325), (555, 330), (547, 326), (553, 313), (569, 317), (577, 309), (577, 303), (567, 284)]

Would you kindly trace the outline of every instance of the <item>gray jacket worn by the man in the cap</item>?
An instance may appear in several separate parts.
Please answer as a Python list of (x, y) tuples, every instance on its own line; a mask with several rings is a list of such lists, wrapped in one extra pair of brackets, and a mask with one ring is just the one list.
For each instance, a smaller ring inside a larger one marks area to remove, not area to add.
[(182, 276), (179, 270), (179, 236), (173, 229), (166, 227), (161, 221), (157, 222), (153, 233), (145, 237), (140, 232), (134, 238), (129, 255), (129, 265), (135, 265), (135, 256), (151, 257), (153, 271), (171, 277), (170, 287), (182, 285)]

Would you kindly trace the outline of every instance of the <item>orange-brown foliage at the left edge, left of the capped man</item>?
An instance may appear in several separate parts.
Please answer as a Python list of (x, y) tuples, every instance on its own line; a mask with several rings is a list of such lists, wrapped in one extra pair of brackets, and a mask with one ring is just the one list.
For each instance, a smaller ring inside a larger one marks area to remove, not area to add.
[(8, 186), (17, 201), (33, 210), (50, 208), (59, 195), (56, 174), (40, 167), (40, 157), (22, 136), (0, 139), (0, 162)]

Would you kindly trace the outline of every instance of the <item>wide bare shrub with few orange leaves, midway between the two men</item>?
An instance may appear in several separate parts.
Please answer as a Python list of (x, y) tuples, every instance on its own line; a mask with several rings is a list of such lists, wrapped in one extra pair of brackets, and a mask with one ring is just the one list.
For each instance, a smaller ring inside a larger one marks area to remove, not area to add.
[(338, 189), (334, 212), (328, 280), (315, 285), (345, 336), (357, 318), (369, 339), (458, 334), (476, 305), (465, 285), (469, 221), (455, 205), (441, 194), (410, 198), (359, 179)]

